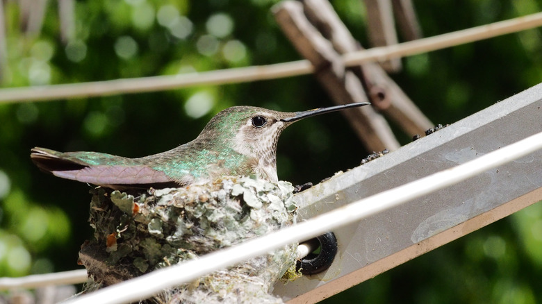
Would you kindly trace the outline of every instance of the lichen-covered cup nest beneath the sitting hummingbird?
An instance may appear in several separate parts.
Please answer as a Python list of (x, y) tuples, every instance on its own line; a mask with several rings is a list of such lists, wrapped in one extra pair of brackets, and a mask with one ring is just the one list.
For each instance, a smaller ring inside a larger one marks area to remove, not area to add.
[[(128, 280), (295, 223), (293, 186), (227, 177), (184, 188), (128, 194), (92, 190), (90, 225), (95, 239), (79, 253), (96, 289)], [(281, 303), (269, 294), (295, 264), (290, 244), (149, 300), (158, 303)]]

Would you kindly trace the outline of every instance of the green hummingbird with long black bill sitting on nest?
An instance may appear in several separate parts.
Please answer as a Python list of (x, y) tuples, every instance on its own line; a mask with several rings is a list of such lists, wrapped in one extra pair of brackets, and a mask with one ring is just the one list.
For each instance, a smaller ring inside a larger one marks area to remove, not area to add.
[(220, 176), (251, 176), (277, 182), (277, 141), (295, 121), (370, 103), (347, 103), (302, 112), (253, 106), (222, 110), (195, 140), (142, 158), (98, 152), (58, 152), (35, 147), (31, 160), (42, 171), (110, 189), (186, 187)]

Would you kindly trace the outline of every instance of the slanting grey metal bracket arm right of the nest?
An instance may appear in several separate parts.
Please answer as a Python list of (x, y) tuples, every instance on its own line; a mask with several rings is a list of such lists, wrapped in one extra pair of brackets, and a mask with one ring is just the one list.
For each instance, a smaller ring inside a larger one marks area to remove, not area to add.
[[(542, 131), (542, 84), (297, 194), (309, 219)], [(334, 233), (331, 267), (274, 293), (315, 303), (542, 200), (542, 151)], [(340, 221), (340, 219), (337, 219)]]

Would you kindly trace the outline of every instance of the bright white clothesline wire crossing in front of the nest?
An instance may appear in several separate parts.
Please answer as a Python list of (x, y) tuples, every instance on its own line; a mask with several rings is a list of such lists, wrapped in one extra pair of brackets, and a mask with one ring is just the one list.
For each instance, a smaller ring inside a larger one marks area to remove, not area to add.
[[(366, 199), (355, 201), (336, 210), (320, 214), (308, 221), (298, 223), (295, 226), (281, 229), (263, 237), (250, 239), (243, 244), (222, 249), (215, 253), (209, 253), (197, 260), (183, 262), (172, 267), (159, 269), (145, 276), (120, 282), (97, 292), (74, 298), (67, 301), (66, 304), (130, 303), (148, 298), (167, 287), (191, 282), (217, 269), (231, 266), (251, 257), (263, 255), (286, 244), (316, 237), (329, 230), (370, 217), (406, 201), (454, 185), (477, 174), (482, 174), (488, 169), (511, 162), (539, 149), (542, 149), (542, 132), (482, 155), (475, 160), (439, 171)], [(340, 221), (337, 219), (340, 219)]]

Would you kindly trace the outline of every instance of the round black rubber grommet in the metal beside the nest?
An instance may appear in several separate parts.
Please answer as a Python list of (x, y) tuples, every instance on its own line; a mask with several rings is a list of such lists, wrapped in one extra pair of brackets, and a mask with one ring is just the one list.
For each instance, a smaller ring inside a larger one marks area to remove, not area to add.
[(337, 254), (337, 239), (334, 233), (325, 233), (308, 242), (318, 242), (320, 244), (320, 253), (309, 253), (302, 260), (297, 261), (297, 269), (306, 276), (325, 271), (331, 266)]

